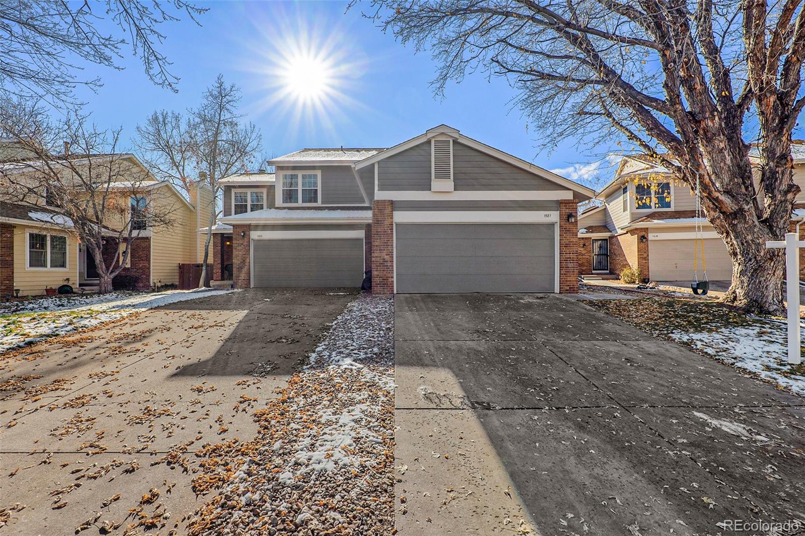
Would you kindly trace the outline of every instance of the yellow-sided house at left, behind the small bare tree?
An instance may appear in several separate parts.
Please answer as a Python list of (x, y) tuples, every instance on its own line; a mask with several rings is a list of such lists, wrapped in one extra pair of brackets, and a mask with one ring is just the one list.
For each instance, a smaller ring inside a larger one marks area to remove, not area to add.
[[(19, 154), (2, 150), (8, 167), (27, 166), (35, 162), (20, 159)], [(113, 155), (98, 155), (97, 159)], [(151, 287), (174, 285), (179, 282), (179, 264), (200, 262), (204, 250), (197, 229), (200, 221), (207, 221), (209, 212), (214, 209), (212, 190), (206, 186), (193, 188), (190, 199), (186, 199), (176, 188), (166, 181), (158, 181), (134, 155), (114, 155), (115, 158), (130, 163), (137, 170), (136, 188), (132, 183), (112, 183), (110, 189), (120, 192), (126, 199), (118, 200), (123, 207), (148, 206), (155, 212), (170, 212), (170, 226), (150, 228), (148, 221), (142, 229), (134, 230), (130, 247), (130, 258), (121, 275), (133, 277), (134, 287), (146, 290)], [(93, 157), (96, 158), (96, 157)], [(24, 169), (19, 171), (24, 173)], [(79, 243), (72, 230), (72, 221), (60, 215), (56, 207), (48, 206), (47, 195), (35, 199), (10, 202), (6, 184), (0, 187), (0, 297), (12, 295), (39, 295), (47, 287), (56, 288), (67, 283), (72, 287), (94, 290), (97, 287), (97, 270), (92, 254)], [(3, 200), (5, 199), (5, 200)], [(23, 202), (19, 202), (23, 201)], [(109, 228), (108, 248), (105, 248), (106, 262), (122, 252), (117, 243), (118, 231), (127, 216), (120, 216), (118, 225), (107, 215), (105, 226)], [(115, 237), (115, 238), (112, 238)]]

